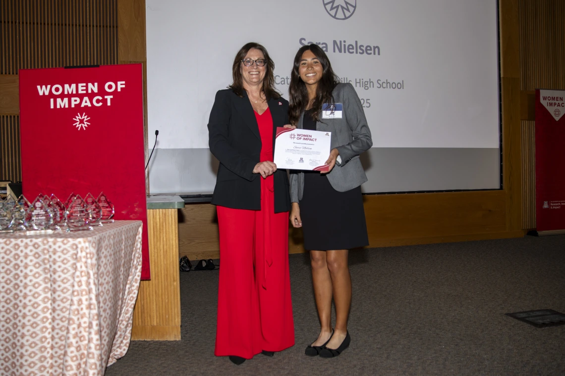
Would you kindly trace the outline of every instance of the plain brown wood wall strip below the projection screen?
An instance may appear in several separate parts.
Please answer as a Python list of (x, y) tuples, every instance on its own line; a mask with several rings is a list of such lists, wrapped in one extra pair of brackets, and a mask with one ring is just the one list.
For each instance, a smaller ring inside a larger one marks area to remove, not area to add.
[[(370, 247), (467, 241), (524, 235), (506, 229), (504, 191), (363, 196)], [(210, 204), (179, 210), (179, 253), (219, 258), (218, 219)], [(302, 253), (302, 231), (290, 226), (289, 253)]]

